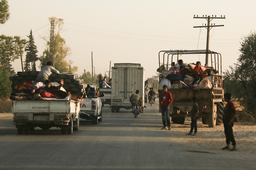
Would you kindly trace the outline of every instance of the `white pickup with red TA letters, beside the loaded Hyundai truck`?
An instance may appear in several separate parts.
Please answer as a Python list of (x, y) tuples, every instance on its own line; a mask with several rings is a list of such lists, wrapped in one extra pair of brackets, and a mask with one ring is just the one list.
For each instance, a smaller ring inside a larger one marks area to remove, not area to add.
[(80, 102), (80, 118), (91, 120), (92, 124), (98, 124), (102, 121), (102, 102), (100, 97), (104, 97), (104, 93), (100, 93), (97, 98), (84, 98)]

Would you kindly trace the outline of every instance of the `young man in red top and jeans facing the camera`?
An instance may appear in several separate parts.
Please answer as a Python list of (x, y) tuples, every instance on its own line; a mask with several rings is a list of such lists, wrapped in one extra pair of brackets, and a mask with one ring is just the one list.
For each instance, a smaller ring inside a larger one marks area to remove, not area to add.
[(161, 113), (164, 127), (161, 130), (171, 130), (170, 109), (172, 103), (172, 94), (168, 92), (168, 86), (163, 85), (164, 92), (161, 94)]

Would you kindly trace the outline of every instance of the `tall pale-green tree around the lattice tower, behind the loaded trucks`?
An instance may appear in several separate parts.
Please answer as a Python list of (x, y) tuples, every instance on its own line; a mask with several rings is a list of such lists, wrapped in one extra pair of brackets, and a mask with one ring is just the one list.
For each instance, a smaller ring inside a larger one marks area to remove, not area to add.
[(54, 38), (53, 38), (53, 49), (51, 53), (50, 48), (50, 37), (45, 38), (46, 49), (43, 55), (39, 58), (40, 67), (44, 67), (47, 61), (51, 61), (53, 57), (54, 66), (60, 72), (76, 72), (77, 66), (69, 67), (73, 63), (71, 60), (66, 60), (66, 57), (70, 55), (70, 48), (66, 46), (66, 40), (61, 37), (60, 32), (62, 31), (63, 19), (51, 17), (49, 21), (54, 20)]

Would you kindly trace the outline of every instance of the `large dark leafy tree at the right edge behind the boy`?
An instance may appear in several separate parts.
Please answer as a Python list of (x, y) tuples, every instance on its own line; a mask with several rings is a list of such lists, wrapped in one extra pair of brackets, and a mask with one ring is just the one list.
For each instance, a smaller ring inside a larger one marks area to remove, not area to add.
[(241, 39), (240, 56), (235, 67), (224, 72), (224, 87), (232, 92), (247, 111), (256, 109), (256, 32)]

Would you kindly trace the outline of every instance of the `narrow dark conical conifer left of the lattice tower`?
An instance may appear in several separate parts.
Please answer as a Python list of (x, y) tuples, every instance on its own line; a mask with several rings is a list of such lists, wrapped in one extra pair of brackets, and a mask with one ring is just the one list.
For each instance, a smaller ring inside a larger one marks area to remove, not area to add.
[[(30, 30), (30, 34), (28, 35), (29, 40), (27, 41), (27, 45), (25, 48), (26, 54), (26, 60), (25, 60), (25, 70), (29, 71), (30, 66), (32, 67), (32, 71), (37, 71), (36, 69), (36, 61), (38, 60), (37, 57), (37, 46), (35, 45), (34, 37), (32, 35), (32, 29)], [(31, 65), (29, 64), (31, 63)]]

